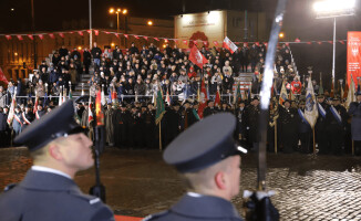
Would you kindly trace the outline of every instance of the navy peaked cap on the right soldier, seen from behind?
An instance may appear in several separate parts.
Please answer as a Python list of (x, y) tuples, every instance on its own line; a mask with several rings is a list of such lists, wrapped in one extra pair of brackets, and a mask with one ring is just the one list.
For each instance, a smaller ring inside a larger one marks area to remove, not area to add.
[(194, 172), (241, 154), (233, 138), (236, 117), (215, 114), (192, 125), (165, 149), (164, 160), (179, 172)]

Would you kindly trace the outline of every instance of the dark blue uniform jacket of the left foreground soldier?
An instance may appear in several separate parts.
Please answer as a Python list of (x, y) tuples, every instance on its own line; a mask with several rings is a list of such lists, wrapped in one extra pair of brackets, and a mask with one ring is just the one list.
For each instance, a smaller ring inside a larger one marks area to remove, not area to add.
[(114, 220), (109, 207), (82, 193), (72, 179), (35, 170), (0, 196), (0, 214), (2, 221)]

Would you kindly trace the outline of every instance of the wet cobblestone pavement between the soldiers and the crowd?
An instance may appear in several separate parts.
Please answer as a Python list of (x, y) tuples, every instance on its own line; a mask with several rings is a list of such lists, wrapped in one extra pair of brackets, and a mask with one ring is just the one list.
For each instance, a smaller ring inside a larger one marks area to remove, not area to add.
[[(243, 157), (241, 190), (256, 187), (255, 154)], [(19, 182), (32, 161), (23, 148), (0, 149), (0, 188)], [(144, 217), (159, 212), (184, 193), (176, 171), (157, 150), (106, 149), (101, 159), (106, 203), (115, 213)], [(75, 181), (84, 192), (95, 183), (93, 169)], [(281, 220), (361, 220), (361, 158), (268, 155), (267, 186)], [(234, 203), (243, 213), (241, 196)]]

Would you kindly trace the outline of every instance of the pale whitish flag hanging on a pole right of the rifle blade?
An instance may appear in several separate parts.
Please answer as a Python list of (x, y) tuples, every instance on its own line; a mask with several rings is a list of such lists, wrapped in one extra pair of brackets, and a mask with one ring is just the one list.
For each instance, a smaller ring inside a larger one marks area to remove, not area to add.
[(305, 106), (305, 118), (310, 124), (311, 128), (314, 127), (317, 118), (319, 116), (317, 102), (314, 97), (314, 91), (311, 77), (308, 78), (308, 86), (306, 91), (306, 106)]

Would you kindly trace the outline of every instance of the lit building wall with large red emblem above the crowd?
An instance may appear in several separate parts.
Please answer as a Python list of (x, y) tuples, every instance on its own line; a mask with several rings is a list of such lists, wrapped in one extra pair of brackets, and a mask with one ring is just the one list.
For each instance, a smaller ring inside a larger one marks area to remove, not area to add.
[[(214, 41), (221, 43), (225, 36), (234, 42), (267, 41), (269, 30), (266, 13), (262, 12), (217, 10), (174, 17), (176, 39), (207, 39), (209, 46), (215, 46)], [(188, 48), (189, 44), (179, 42), (178, 46)]]

